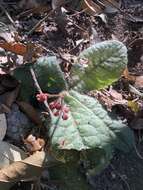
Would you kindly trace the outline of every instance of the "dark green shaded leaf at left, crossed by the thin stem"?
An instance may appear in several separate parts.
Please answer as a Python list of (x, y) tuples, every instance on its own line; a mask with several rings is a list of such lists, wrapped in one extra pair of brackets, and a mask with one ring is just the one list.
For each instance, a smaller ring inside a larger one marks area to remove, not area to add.
[[(36, 92), (30, 67), (31, 64), (14, 71), (14, 76), (21, 82), (21, 98), (23, 100), (29, 100)], [(33, 65), (33, 69), (43, 92), (59, 93), (67, 89), (64, 75), (55, 56), (39, 58)]]

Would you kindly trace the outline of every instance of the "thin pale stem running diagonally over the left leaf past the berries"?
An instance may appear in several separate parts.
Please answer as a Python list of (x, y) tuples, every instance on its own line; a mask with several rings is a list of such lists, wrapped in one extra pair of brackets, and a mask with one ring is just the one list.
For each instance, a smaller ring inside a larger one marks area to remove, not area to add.
[[(37, 91), (39, 93), (42, 93), (41, 87), (40, 87), (40, 85), (38, 83), (38, 80), (36, 78), (35, 72), (34, 72), (32, 67), (30, 68), (30, 73), (31, 73), (31, 76), (32, 76), (32, 79), (33, 79), (33, 82), (34, 82), (34, 86), (36, 87), (36, 89), (37, 89)], [(51, 109), (49, 108), (49, 105), (48, 105), (47, 101), (44, 101), (44, 105), (45, 105), (47, 111), (49, 112), (49, 114), (52, 116), (53, 113), (52, 113)]]

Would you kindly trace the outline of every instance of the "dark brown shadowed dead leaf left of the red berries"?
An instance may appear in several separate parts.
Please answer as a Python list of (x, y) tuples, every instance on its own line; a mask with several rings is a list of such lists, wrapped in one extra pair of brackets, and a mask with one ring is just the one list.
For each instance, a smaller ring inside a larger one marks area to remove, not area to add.
[(17, 104), (35, 125), (42, 126), (42, 120), (33, 106), (22, 101), (17, 101)]

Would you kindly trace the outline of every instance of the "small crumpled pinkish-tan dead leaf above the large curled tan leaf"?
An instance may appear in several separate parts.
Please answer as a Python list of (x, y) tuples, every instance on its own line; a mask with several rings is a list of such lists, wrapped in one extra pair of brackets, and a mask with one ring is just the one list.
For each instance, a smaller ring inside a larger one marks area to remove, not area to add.
[(28, 151), (30, 153), (34, 153), (36, 151), (40, 151), (44, 148), (45, 146), (45, 141), (44, 139), (37, 138), (33, 136), (32, 134), (29, 135), (26, 139), (23, 140)]

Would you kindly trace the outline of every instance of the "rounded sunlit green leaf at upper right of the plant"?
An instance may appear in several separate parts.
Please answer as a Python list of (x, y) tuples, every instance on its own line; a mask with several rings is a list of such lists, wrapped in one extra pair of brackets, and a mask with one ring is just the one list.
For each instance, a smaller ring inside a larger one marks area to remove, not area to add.
[(117, 81), (127, 66), (127, 49), (119, 41), (97, 43), (79, 55), (73, 68), (75, 86), (80, 90), (107, 87)]

